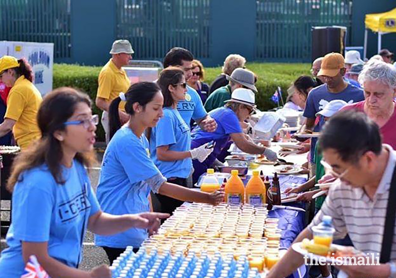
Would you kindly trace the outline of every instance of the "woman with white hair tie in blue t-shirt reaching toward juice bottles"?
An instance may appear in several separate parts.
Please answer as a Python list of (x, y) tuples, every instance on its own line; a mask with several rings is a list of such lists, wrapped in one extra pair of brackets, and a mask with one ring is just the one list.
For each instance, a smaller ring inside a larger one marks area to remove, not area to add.
[[(121, 126), (118, 106), (126, 101), (129, 121)], [(103, 157), (97, 198), (103, 211), (111, 214), (139, 213), (150, 210), (150, 191), (183, 201), (218, 204), (224, 194), (194, 191), (168, 183), (152, 159), (147, 128), (157, 125), (164, 115), (164, 97), (152, 82), (135, 83), (126, 94), (120, 93), (110, 104), (110, 142)], [(152, 208), (151, 208), (152, 209)], [(110, 262), (127, 246), (139, 248), (148, 237), (145, 229), (129, 229), (114, 236), (96, 236), (95, 244), (102, 246)]]

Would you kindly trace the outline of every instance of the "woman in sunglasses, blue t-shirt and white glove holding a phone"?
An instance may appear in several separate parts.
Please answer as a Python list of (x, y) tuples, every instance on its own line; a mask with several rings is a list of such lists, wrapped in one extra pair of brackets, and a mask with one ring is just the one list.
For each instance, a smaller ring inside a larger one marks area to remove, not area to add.
[[(184, 73), (179, 68), (164, 69), (157, 81), (164, 96), (164, 116), (150, 132), (150, 155), (158, 170), (169, 182), (187, 187), (187, 178), (192, 173), (192, 159), (200, 155), (201, 161), (213, 148), (201, 146), (190, 150), (189, 123), (185, 123), (177, 110), (177, 103), (185, 100), (187, 85)], [(157, 194), (161, 212), (172, 213), (182, 201)]]

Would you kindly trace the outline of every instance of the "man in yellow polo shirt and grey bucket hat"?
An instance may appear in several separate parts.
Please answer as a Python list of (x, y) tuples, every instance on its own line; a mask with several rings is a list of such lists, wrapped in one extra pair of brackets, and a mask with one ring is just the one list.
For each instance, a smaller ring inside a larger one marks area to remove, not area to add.
[[(109, 106), (120, 92), (126, 93), (131, 82), (121, 67), (126, 66), (134, 53), (128, 40), (116, 40), (111, 48), (111, 59), (99, 73), (99, 87), (96, 95), (96, 106), (103, 110), (101, 123), (106, 132), (106, 142), (109, 142)], [(122, 123), (129, 120), (124, 110), (125, 103), (120, 104), (120, 119)]]

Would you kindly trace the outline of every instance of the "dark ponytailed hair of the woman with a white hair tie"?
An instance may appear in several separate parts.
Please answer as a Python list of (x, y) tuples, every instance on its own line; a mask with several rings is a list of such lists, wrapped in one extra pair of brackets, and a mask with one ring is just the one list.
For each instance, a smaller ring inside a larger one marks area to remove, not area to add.
[[(139, 103), (145, 108), (148, 102), (152, 101), (155, 94), (161, 91), (160, 87), (153, 82), (139, 82), (132, 84), (128, 91), (125, 93), (126, 104), (125, 112), (129, 115), (134, 115), (133, 104), (135, 102)], [(110, 137), (114, 136), (118, 129), (121, 128), (120, 115), (118, 114), (118, 106), (120, 105), (121, 98), (118, 96), (110, 104), (109, 108), (109, 129)]]

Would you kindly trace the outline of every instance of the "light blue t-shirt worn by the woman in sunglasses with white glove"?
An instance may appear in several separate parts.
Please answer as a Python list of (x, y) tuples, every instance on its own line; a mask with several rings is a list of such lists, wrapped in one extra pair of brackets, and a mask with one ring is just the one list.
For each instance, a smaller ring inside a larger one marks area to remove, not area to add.
[(192, 171), (191, 158), (161, 161), (157, 157), (157, 148), (160, 146), (169, 146), (170, 151), (190, 150), (190, 126), (186, 124), (176, 109), (164, 108), (164, 116), (152, 129), (150, 135), (151, 159), (165, 178), (188, 178)]

